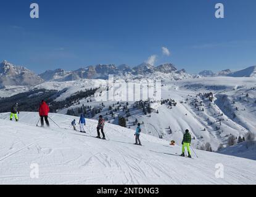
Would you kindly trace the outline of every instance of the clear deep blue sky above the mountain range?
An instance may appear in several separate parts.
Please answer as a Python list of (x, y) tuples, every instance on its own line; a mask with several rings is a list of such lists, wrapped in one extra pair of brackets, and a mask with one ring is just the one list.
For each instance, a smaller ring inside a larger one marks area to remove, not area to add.
[[(30, 4), (39, 18), (30, 18)], [(215, 18), (215, 4), (225, 18)], [(255, 0), (2, 0), (0, 61), (41, 73), (171, 62), (189, 73), (256, 65)], [(170, 50), (163, 54), (162, 47)], [(152, 56), (154, 57), (154, 56)], [(152, 58), (151, 58), (152, 59)]]

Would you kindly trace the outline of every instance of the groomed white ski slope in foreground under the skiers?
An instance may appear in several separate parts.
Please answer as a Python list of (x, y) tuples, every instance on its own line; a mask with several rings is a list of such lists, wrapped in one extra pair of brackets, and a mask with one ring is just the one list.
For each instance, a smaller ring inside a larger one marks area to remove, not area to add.
[[(36, 127), (38, 113), (20, 113), (19, 123), (0, 114), (1, 184), (255, 184), (256, 161), (205, 151), (182, 158), (181, 147), (142, 134), (142, 147), (133, 145), (134, 131), (105, 125), (109, 141), (96, 139), (97, 122), (89, 120), (87, 134), (69, 129), (72, 116), (49, 115), (51, 128)], [(77, 119), (77, 118), (76, 118)], [(215, 164), (224, 178), (215, 177)], [(39, 179), (30, 166), (38, 164)]]

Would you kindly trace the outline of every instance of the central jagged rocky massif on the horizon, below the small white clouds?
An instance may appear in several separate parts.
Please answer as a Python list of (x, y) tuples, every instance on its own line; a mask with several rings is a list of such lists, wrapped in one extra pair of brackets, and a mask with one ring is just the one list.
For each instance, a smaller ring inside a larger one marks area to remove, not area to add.
[[(154, 73), (154, 74), (153, 74)], [(137, 78), (138, 76), (150, 78), (162, 78), (162, 74), (167, 74), (168, 78), (183, 79), (191, 78), (191, 75), (186, 73), (185, 70), (178, 71), (171, 63), (159, 65), (157, 67), (149, 63), (141, 63), (141, 65), (131, 68), (128, 65), (96, 65), (80, 68), (75, 71), (64, 71), (62, 69), (47, 70), (39, 74), (45, 81), (70, 81), (76, 79), (107, 79), (109, 74), (114, 74), (117, 78)], [(151, 75), (152, 74), (152, 75)], [(180, 76), (178, 76), (180, 75)]]

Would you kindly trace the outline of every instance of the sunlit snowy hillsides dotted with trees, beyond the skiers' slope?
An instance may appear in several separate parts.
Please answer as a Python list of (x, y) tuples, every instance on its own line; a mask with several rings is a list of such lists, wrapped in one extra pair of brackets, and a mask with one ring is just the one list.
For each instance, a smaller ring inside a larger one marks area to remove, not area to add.
[[(161, 75), (165, 74), (162, 73)], [(99, 87), (100, 84), (105, 84), (106, 86), (106, 82), (102, 79), (80, 79), (77, 81), (44, 82), (35, 86), (35, 88), (67, 89), (57, 98), (57, 101), (60, 101), (65, 100), (65, 98), (70, 97), (75, 92), (91, 87)], [(116, 84), (118, 85), (117, 81)], [(172, 81), (165, 78), (162, 84), (161, 97), (163, 99), (174, 99), (177, 103), (176, 107), (170, 108), (168, 104), (160, 105), (160, 101), (153, 100), (152, 106), (154, 107), (152, 108), (154, 108), (154, 111), (149, 116), (149, 114), (144, 115), (142, 110), (133, 108), (134, 102), (129, 102), (128, 107), (131, 116), (128, 117), (127, 127), (135, 129), (133, 123), (138, 119), (139, 123), (144, 122), (142, 124), (142, 132), (155, 137), (163, 137), (163, 139), (167, 140), (175, 140), (179, 144), (181, 143), (184, 130), (189, 129), (192, 132), (192, 137), (195, 137), (192, 140), (194, 148), (200, 148), (209, 142), (214, 151), (218, 149), (220, 143), (227, 145), (228, 137), (231, 134), (238, 138), (239, 136), (244, 137), (249, 131), (256, 131), (255, 78), (212, 77), (184, 79), (181, 81)], [(112, 87), (110, 86), (109, 89), (111, 90)], [(103, 92), (100, 94), (102, 90)], [(102, 103), (101, 99), (105, 96), (104, 90), (105, 87), (102, 87), (95, 97), (89, 98), (92, 102), (88, 103), (88, 98), (83, 98), (71, 107), (59, 110), (58, 113), (65, 114), (68, 109), (82, 107), (83, 105), (85, 107), (98, 108)], [(15, 94), (19, 91), (25, 91), (24, 87), (0, 90), (0, 97), (1, 95), (3, 97), (7, 94)], [(122, 89), (119, 86), (115, 87), (115, 96), (120, 94), (121, 91)], [(133, 92), (133, 90), (129, 90), (129, 92)], [(213, 92), (215, 97), (213, 102), (210, 102), (209, 99), (202, 100), (201, 97), (197, 96), (198, 94), (209, 92)], [(137, 92), (136, 97), (139, 95), (140, 92)], [(195, 99), (198, 102), (202, 102), (198, 103), (202, 106), (196, 108), (194, 105), (191, 105)], [(115, 117), (112, 118), (109, 111), (109, 106), (117, 102), (104, 100), (103, 102), (105, 107), (102, 112), (93, 118), (97, 119), (99, 115), (102, 115), (104, 118), (107, 117), (107, 121), (110, 121), (110, 123), (118, 124), (117, 117), (119, 112), (115, 112)], [(126, 105), (126, 102), (122, 105)], [(117, 108), (117, 105), (115, 105), (115, 108)], [(157, 110), (159, 110), (159, 113), (157, 113)], [(125, 112), (120, 115), (126, 117)], [(91, 118), (91, 116), (89, 117)]]

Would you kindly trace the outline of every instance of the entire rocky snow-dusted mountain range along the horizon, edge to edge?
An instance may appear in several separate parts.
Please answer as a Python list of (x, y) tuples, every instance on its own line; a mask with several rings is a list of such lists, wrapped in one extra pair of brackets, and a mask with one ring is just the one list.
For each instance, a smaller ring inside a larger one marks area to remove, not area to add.
[(181, 80), (189, 78), (209, 76), (231, 77), (256, 77), (256, 66), (251, 66), (241, 71), (232, 72), (223, 70), (213, 73), (210, 70), (201, 71), (199, 74), (188, 74), (184, 69), (178, 70), (173, 64), (165, 63), (152, 66), (149, 63), (141, 63), (138, 66), (129, 65), (95, 65), (79, 68), (74, 71), (66, 71), (62, 68), (47, 70), (41, 74), (35, 74), (23, 66), (15, 66), (4, 60), (0, 65), (0, 88), (6, 86), (35, 86), (44, 81), (75, 81), (78, 79), (108, 79), (109, 74), (114, 74), (117, 79), (142, 79), (158, 78), (167, 80)]

